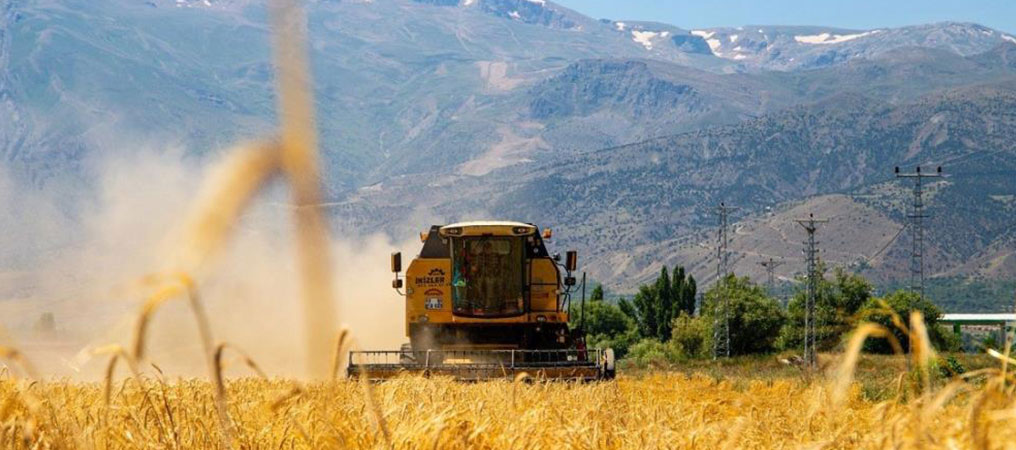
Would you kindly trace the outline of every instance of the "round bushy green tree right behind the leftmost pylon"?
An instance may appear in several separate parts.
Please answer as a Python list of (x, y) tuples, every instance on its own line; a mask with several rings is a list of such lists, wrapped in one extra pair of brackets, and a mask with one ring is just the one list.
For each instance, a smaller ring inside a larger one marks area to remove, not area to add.
[[(717, 302), (725, 298), (731, 329), (731, 355), (764, 353), (776, 349), (786, 315), (776, 299), (747, 276), (731, 275), (705, 294), (701, 317), (712, 324)], [(711, 327), (711, 325), (710, 325)], [(711, 333), (711, 330), (710, 330)]]

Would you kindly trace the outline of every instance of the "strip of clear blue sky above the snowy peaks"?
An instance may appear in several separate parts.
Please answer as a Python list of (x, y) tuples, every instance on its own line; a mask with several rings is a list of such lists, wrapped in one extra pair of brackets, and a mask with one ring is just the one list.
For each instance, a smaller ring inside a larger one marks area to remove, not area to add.
[(555, 0), (594, 18), (653, 20), (684, 28), (826, 25), (878, 28), (946, 20), (1016, 34), (1014, 0)]

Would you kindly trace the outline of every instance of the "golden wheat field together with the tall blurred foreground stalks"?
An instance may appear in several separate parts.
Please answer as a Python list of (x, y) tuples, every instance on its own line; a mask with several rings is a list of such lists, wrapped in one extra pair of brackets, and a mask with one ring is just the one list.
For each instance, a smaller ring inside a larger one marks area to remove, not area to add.
[[(350, 347), (332, 339), (326, 217), (320, 201), (317, 143), (302, 12), (274, 0), (280, 130), (233, 152), (211, 185), (169, 268), (153, 269), (133, 345), (98, 348), (110, 357), (105, 382), (40, 377), (30, 355), (0, 346), (0, 448), (1016, 448), (1012, 363), (965, 379), (932, 381), (934, 351), (919, 317), (907, 331), (912, 364), (885, 386), (888, 399), (865, 399), (852, 376), (861, 342), (885, 330), (862, 326), (826, 374), (723, 379), (658, 372), (612, 382), (533, 379), (465, 384), (406, 376), (381, 384), (328, 380), (331, 361)], [(289, 30), (289, 31), (287, 31)], [(312, 380), (270, 379), (242, 351), (255, 376), (227, 380), (200, 299), (214, 254), (248, 203), (273, 178), (293, 191), (297, 267), (303, 285), (308, 372)], [(146, 361), (145, 333), (166, 302), (187, 301), (198, 325), (208, 379), (166, 378)], [(901, 322), (901, 321), (900, 321)], [(900, 323), (902, 328), (902, 324)], [(351, 338), (352, 339), (352, 338)], [(337, 347), (337, 349), (336, 349)], [(1009, 355), (1008, 351), (1005, 355)], [(897, 357), (903, 359), (904, 357)], [(117, 370), (126, 368), (125, 376)], [(332, 365), (332, 374), (340, 372)]]

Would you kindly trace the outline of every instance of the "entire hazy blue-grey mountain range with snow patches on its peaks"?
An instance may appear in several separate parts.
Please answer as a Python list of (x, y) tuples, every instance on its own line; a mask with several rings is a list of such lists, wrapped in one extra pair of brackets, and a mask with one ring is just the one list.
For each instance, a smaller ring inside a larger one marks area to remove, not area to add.
[[(544, 0), (319, 0), (308, 29), (329, 211), (393, 236), (423, 212), (559, 230), (618, 293), (661, 264), (714, 276), (715, 206), (739, 206), (735, 271), (824, 258), (908, 276), (909, 185), (929, 182), (932, 277), (1016, 275), (1016, 39), (974, 23), (685, 29)], [(88, 184), (130, 146), (192, 154), (270, 133), (269, 27), (249, 0), (10, 0), (0, 157), (33, 186)], [(414, 230), (419, 231), (419, 230)], [(797, 233), (797, 234), (796, 234)], [(991, 308), (986, 301), (977, 308)]]

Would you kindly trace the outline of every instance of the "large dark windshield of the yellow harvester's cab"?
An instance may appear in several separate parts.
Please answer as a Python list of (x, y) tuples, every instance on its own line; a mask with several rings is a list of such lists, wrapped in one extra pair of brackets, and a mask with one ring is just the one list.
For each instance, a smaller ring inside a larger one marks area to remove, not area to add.
[(464, 316), (524, 312), (522, 238), (452, 239), (452, 307)]

